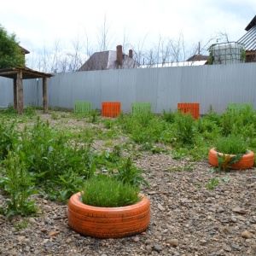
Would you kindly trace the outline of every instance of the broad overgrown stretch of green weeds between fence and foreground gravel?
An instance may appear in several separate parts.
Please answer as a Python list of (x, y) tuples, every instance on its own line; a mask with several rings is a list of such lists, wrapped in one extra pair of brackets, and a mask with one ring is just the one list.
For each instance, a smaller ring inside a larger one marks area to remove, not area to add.
[[(171, 110), (161, 115), (120, 113), (116, 119), (102, 119), (96, 115), (98, 125), (88, 124), (92, 121), (90, 114), (86, 117), (76, 114), (81, 125), (68, 127), (62, 125), (62, 119), (51, 127), (48, 122), (35, 119), (35, 114), (34, 108), (27, 108), (22, 117), (13, 106), (1, 110), (0, 160), (7, 160), (12, 151), (13, 156), (19, 158), (17, 166), (24, 166), (26, 176), (36, 184), (39, 193), (51, 200), (67, 201), (70, 195), (82, 190), (87, 179), (97, 175), (99, 178), (110, 176), (137, 189), (141, 184), (148, 185), (145, 172), (139, 170), (133, 160), (135, 156), (140, 157), (142, 150), (148, 151), (147, 154), (171, 154), (175, 160), (185, 160), (181, 166), (172, 166), (171, 172), (193, 172), (194, 162), (207, 160), (208, 150), (216, 147), (218, 138), (231, 137), (233, 146), (242, 148), (241, 138), (246, 149), (256, 151), (256, 113), (247, 108), (236, 112), (227, 110), (218, 115), (210, 106), (207, 115), (197, 120), (189, 114), (172, 113)], [(119, 136), (126, 138), (125, 143), (117, 144), (113, 140)], [(96, 151), (94, 140), (106, 140), (102, 143), (108, 149)], [(221, 144), (229, 145), (225, 141)], [(236, 155), (224, 165), (225, 159), (219, 158), (219, 170), (228, 169), (238, 159)], [(2, 163), (2, 170), (7, 170), (7, 162)], [(9, 195), (3, 185), (7, 171), (1, 177), (2, 189)], [(208, 187), (216, 185), (213, 180)]]

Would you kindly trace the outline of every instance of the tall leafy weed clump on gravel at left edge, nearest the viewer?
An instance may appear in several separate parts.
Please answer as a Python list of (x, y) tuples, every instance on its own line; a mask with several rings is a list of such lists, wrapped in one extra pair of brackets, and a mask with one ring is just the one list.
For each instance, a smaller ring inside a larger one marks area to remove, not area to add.
[(3, 160), (3, 165), (6, 173), (4, 173), (5, 177), (1, 177), (0, 183), (4, 191), (9, 194), (9, 201), (3, 206), (6, 218), (15, 214), (28, 216), (38, 212), (34, 201), (29, 201), (29, 197), (38, 191), (33, 189), (33, 179), (19, 155), (9, 151), (7, 158)]

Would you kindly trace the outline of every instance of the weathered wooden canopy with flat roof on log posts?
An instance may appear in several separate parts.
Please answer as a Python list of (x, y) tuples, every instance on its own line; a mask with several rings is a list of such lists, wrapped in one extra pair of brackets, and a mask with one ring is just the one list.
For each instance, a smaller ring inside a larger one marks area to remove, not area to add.
[[(47, 103), (47, 79), (54, 75), (50, 73), (41, 73), (27, 67), (13, 67), (0, 69), (0, 76), (14, 80), (14, 107), (18, 108), (18, 113), (23, 113), (23, 79), (43, 79), (43, 105), (44, 113), (48, 113)], [(17, 94), (18, 88), (18, 94)]]

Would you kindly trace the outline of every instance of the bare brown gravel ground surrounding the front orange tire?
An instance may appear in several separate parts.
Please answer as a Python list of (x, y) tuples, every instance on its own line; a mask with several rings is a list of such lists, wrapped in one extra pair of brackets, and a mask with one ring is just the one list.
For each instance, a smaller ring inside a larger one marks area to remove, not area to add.
[[(0, 255), (256, 255), (256, 168), (211, 173), (207, 160), (191, 163), (147, 153), (136, 165), (147, 172), (149, 183), (142, 187), (151, 204), (143, 234), (80, 236), (67, 225), (66, 204), (37, 195), (37, 217), (7, 221), (0, 215)], [(207, 189), (212, 178), (219, 183)], [(3, 201), (0, 191), (0, 205)]]

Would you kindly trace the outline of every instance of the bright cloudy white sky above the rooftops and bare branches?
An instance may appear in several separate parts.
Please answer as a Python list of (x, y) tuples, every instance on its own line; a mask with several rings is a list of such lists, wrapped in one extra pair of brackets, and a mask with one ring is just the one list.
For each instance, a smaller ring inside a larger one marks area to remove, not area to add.
[(219, 32), (237, 41), (254, 15), (255, 0), (12, 0), (1, 3), (0, 24), (32, 52), (56, 41), (68, 48), (78, 38), (96, 44), (106, 20), (115, 50), (124, 35), (148, 48), (180, 34), (187, 44), (206, 44)]

